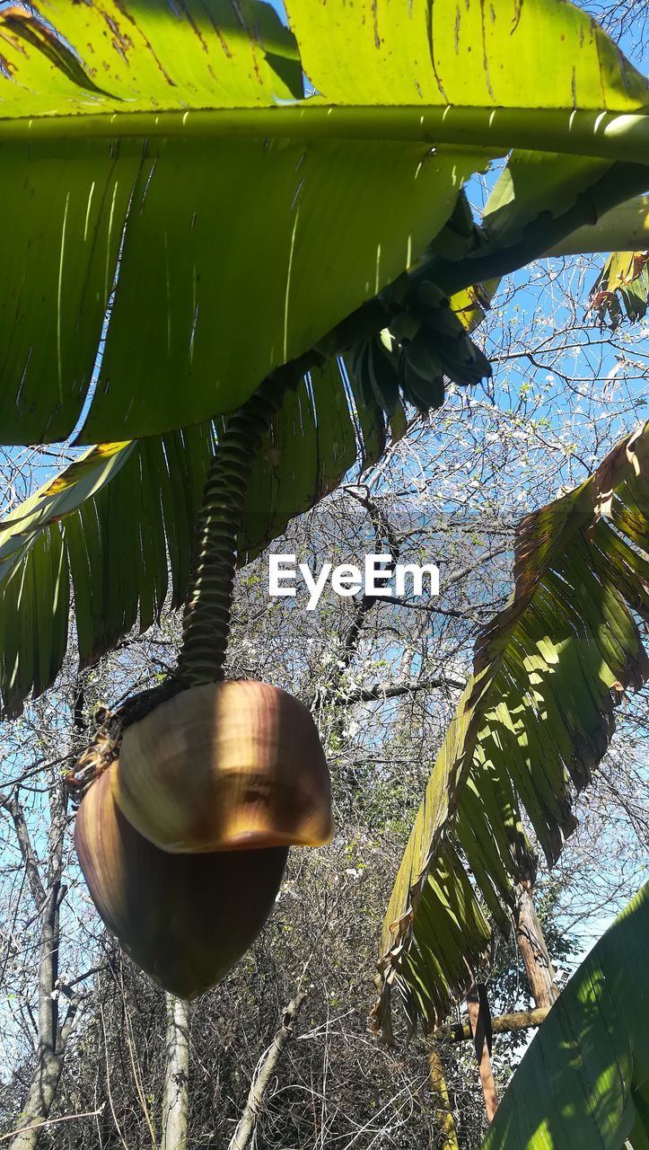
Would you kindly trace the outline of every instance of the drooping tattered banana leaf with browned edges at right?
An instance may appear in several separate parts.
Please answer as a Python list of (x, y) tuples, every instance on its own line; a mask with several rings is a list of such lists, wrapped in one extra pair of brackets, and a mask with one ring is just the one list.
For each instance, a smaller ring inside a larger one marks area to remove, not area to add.
[(649, 620), (648, 552), (646, 424), (518, 529), (511, 603), (477, 644), (385, 918), (376, 1020), (388, 1033), (394, 987), (410, 1025), (430, 1028), (476, 981), (485, 908), (504, 926), (515, 884), (534, 877), (521, 807), (557, 859), (616, 703), (649, 676), (634, 619)]

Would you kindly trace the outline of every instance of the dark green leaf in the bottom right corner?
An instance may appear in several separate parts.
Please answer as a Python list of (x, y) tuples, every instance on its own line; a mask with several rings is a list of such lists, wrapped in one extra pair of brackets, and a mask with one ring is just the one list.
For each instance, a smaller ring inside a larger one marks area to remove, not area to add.
[(649, 1147), (649, 884), (593, 948), (518, 1066), (482, 1150)]

